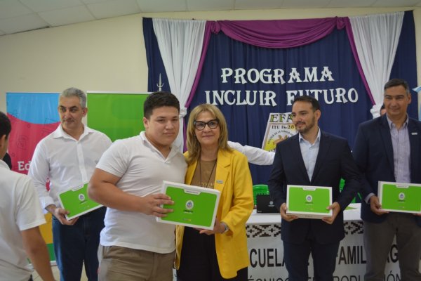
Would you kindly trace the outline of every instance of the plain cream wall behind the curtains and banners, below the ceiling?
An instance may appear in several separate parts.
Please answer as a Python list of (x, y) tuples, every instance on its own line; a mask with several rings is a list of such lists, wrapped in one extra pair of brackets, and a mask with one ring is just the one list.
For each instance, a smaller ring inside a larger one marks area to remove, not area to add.
[[(83, 22), (0, 37), (0, 111), (6, 92), (147, 91), (142, 16), (204, 20), (324, 18), (406, 11), (410, 8), (347, 8), (190, 13), (147, 13)], [(421, 8), (414, 9), (417, 42)], [(418, 44), (417, 44), (418, 45)], [(421, 50), (417, 48), (418, 81)]]

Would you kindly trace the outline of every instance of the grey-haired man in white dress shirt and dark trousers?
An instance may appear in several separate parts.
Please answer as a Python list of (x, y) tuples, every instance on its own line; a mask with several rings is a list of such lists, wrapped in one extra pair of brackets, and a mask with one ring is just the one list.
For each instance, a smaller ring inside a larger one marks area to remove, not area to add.
[[(29, 176), (44, 209), (53, 214), (53, 243), (60, 280), (80, 280), (83, 263), (88, 280), (98, 280), (98, 244), (105, 207), (67, 221), (58, 194), (88, 183), (96, 164), (112, 141), (82, 123), (86, 93), (69, 88), (59, 96), (61, 124), (42, 139), (29, 166)], [(50, 180), (50, 190), (46, 181)]]

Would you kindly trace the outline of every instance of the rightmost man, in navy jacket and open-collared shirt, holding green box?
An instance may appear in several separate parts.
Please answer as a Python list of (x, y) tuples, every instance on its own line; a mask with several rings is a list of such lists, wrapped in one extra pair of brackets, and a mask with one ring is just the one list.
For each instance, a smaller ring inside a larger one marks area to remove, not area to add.
[(392, 79), (385, 84), (386, 115), (360, 124), (354, 158), (363, 174), (361, 218), (367, 264), (365, 280), (383, 280), (385, 264), (396, 235), (401, 280), (421, 280), (421, 217), (381, 209), (379, 181), (421, 183), (421, 122), (409, 118), (408, 84)]

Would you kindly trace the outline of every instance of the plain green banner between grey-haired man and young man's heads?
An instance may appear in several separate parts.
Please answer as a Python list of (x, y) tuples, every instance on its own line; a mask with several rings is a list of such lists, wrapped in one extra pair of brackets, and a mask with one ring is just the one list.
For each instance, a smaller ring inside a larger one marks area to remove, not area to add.
[(87, 91), (88, 126), (114, 142), (144, 130), (143, 103), (148, 93)]

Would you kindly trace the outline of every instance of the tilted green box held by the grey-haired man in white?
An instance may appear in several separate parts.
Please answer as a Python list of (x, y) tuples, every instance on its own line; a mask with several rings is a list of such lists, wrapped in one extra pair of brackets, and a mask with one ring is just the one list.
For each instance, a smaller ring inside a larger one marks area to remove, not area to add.
[(76, 188), (70, 188), (65, 192), (60, 192), (58, 198), (62, 207), (69, 211), (69, 214), (66, 215), (67, 220), (102, 207), (101, 204), (89, 199), (88, 183)]

